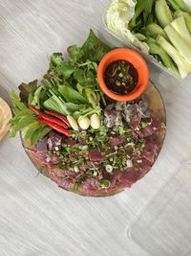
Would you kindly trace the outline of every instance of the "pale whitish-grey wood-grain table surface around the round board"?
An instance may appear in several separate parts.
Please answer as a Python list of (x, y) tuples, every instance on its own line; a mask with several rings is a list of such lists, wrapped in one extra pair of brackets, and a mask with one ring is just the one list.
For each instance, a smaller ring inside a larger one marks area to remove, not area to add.
[[(102, 28), (109, 0), (0, 0), (0, 95), (41, 79), (53, 52), (81, 45)], [(128, 225), (191, 156), (191, 79), (172, 78), (150, 64), (167, 111), (167, 134), (152, 171), (111, 198), (83, 198), (37, 175), (19, 136), (0, 144), (0, 256), (148, 256), (128, 238)], [(190, 195), (191, 196), (191, 195)], [(165, 256), (165, 255), (159, 255)], [(178, 255), (175, 255), (178, 256)], [(179, 255), (180, 256), (180, 255)]]

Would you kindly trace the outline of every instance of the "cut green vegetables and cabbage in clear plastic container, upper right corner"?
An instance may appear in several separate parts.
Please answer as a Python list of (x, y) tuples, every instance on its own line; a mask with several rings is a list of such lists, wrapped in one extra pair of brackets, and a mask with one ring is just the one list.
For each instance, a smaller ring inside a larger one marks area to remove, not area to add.
[(191, 73), (191, 11), (182, 0), (111, 0), (106, 23), (177, 76)]

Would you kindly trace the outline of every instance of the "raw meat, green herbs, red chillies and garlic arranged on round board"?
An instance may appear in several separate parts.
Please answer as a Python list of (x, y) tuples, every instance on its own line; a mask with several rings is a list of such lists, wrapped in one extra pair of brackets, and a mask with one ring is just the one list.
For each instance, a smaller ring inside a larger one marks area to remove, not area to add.
[[(69, 60), (53, 54), (39, 85), (22, 83), (20, 97), (11, 92), (11, 136), (21, 130), (39, 171), (84, 196), (131, 187), (151, 169), (163, 140), (165, 118), (152, 113), (148, 97), (116, 102), (99, 89), (97, 65), (110, 50), (91, 31), (82, 47), (68, 48)], [(131, 68), (119, 64), (120, 73)]]

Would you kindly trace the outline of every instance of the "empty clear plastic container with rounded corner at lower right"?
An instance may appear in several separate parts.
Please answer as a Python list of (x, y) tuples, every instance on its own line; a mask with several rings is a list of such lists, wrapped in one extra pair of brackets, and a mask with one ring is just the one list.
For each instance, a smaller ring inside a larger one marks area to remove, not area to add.
[(128, 235), (153, 256), (191, 255), (191, 160), (130, 224)]

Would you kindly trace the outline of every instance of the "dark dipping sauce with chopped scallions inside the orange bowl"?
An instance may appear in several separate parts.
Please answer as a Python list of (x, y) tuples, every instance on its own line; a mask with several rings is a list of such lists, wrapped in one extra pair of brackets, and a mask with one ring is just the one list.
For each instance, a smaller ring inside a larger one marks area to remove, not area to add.
[(138, 71), (132, 63), (123, 59), (116, 60), (107, 66), (104, 81), (112, 92), (125, 95), (138, 84)]

